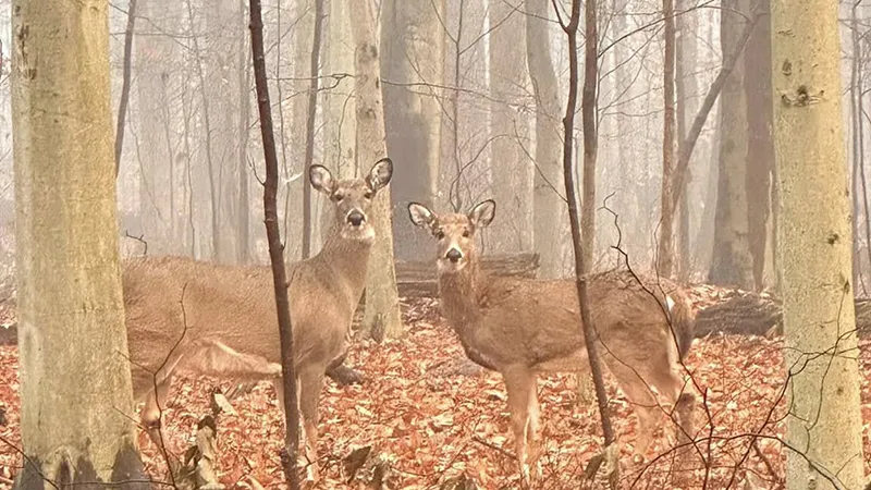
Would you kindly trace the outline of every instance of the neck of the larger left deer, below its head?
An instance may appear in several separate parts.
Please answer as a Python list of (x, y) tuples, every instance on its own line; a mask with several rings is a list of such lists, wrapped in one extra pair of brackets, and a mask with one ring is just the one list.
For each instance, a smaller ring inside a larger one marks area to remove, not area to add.
[(372, 241), (343, 237), (340, 226), (332, 226), (318, 257), (349, 289), (352, 299), (359, 299), (366, 285)]

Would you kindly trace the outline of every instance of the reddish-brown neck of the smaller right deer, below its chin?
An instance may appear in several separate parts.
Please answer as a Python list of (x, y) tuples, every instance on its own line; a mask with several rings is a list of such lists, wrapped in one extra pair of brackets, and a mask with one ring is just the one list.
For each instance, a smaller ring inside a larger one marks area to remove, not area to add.
[(457, 272), (439, 274), (439, 294), (442, 298), (444, 316), (456, 329), (464, 329), (480, 316), (480, 287), (483, 278), (478, 271), (477, 261)]

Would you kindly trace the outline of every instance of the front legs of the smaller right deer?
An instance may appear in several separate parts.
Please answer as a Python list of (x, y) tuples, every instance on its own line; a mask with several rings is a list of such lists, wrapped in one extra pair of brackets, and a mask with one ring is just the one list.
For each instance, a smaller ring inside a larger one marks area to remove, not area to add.
[[(508, 395), (508, 412), (511, 413), (511, 427), (514, 434), (514, 448), (520, 476), (529, 481), (529, 453), (527, 440), (531, 432), (538, 431), (538, 400), (536, 395), (536, 375), (525, 367), (507, 369), (503, 372), (505, 390)], [(531, 394), (530, 394), (531, 392)], [(530, 406), (535, 411), (530, 413)], [(531, 429), (531, 431), (530, 431)], [(535, 439), (537, 437), (533, 436)]]

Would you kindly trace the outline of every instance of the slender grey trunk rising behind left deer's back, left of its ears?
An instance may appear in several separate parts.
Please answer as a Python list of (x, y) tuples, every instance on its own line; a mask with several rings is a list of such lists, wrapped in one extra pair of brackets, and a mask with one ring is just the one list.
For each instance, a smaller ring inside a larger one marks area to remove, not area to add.
[[(306, 114), (306, 154), (303, 175), (315, 160), (315, 122), (318, 114), (318, 75), (320, 45), (323, 27), (323, 0), (315, 0), (315, 28), (311, 36), (311, 61), (309, 62), (308, 105)], [(311, 256), (311, 186), (303, 184), (303, 258)]]

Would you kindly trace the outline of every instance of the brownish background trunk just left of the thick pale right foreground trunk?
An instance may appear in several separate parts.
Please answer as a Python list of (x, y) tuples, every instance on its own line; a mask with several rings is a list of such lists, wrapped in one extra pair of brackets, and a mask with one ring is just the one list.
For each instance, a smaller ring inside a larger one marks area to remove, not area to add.
[[(762, 12), (770, 0), (757, 0)], [(753, 284), (764, 287), (765, 246), (771, 215), (771, 170), (774, 143), (771, 139), (771, 16), (762, 15), (747, 41), (744, 81), (747, 94), (747, 201), (748, 243), (752, 260)], [(741, 123), (743, 124), (743, 123)]]

